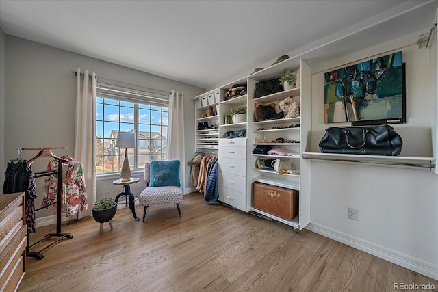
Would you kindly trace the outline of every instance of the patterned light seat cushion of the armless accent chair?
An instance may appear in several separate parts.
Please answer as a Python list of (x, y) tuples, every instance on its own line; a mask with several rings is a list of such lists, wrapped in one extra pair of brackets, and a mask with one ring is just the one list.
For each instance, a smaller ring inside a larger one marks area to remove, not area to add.
[(141, 206), (154, 204), (180, 204), (183, 202), (183, 191), (179, 187), (146, 187), (138, 196)]

